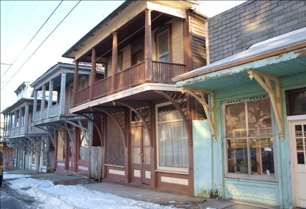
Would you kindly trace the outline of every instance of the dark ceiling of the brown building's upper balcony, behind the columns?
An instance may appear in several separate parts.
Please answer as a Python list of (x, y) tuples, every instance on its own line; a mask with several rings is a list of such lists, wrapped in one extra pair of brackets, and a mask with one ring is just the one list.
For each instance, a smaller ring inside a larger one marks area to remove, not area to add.
[[(166, 22), (170, 21), (173, 18), (177, 18), (175, 16), (171, 16), (169, 14), (161, 13), (158, 11), (151, 12), (151, 30), (155, 30), (156, 28), (162, 26)], [(118, 32), (118, 51), (123, 49), (125, 46), (137, 41), (138, 39), (144, 37), (144, 26), (145, 26), (145, 13), (142, 12), (128, 23), (124, 24), (121, 28), (117, 30)], [(122, 42), (122, 43), (121, 43)], [(101, 41), (96, 46), (96, 56), (97, 57), (110, 57), (112, 55), (112, 46), (113, 46), (113, 34), (107, 36), (106, 39)], [(91, 51), (85, 54), (80, 61), (88, 61), (84, 57), (90, 56)]]

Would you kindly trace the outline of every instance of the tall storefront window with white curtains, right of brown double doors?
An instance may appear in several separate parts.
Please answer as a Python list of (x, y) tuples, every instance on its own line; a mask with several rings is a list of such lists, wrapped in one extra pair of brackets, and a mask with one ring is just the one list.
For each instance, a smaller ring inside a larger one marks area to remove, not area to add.
[(156, 105), (157, 168), (188, 172), (189, 150), (185, 123), (171, 103)]

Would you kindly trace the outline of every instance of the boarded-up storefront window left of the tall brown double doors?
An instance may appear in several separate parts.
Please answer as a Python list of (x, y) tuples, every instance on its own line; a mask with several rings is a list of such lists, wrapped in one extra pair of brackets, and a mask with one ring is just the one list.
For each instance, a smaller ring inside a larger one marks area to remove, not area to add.
[(124, 145), (121, 131), (114, 119), (107, 117), (106, 164), (124, 166)]

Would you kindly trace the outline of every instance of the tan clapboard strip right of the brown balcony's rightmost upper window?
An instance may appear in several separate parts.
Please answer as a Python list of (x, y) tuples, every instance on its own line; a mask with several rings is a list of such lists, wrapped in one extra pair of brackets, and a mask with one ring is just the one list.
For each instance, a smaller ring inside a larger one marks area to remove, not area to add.
[(172, 22), (172, 62), (184, 64), (183, 23), (180, 20)]

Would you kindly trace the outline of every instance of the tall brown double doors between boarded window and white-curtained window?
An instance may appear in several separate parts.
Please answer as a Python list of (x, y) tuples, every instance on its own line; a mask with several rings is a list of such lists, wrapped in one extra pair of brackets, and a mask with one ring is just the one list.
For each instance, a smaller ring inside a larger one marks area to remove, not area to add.
[(132, 182), (151, 184), (150, 144), (144, 127), (131, 128)]

